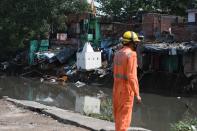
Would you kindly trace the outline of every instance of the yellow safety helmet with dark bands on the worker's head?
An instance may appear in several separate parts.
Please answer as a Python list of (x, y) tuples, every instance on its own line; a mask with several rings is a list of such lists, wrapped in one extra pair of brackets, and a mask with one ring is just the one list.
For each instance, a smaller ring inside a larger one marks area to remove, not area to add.
[(133, 41), (134, 43), (138, 43), (140, 42), (137, 34), (133, 31), (126, 31), (124, 34), (123, 34), (123, 38), (122, 38), (122, 41), (123, 41), (123, 44), (127, 44), (128, 42), (130, 41)]

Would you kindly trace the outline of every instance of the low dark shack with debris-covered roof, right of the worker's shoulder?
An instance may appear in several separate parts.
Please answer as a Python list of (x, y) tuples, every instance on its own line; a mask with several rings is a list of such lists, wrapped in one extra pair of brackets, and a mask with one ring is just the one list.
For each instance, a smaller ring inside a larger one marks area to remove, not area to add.
[(186, 76), (196, 75), (196, 43), (144, 44), (139, 56), (140, 68), (169, 73), (184, 72)]

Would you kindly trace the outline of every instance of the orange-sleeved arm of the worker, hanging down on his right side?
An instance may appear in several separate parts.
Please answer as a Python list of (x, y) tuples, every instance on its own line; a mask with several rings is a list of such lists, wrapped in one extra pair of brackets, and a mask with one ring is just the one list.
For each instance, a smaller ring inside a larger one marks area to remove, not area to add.
[(127, 66), (127, 77), (129, 84), (135, 94), (136, 97), (139, 97), (139, 84), (137, 78), (137, 55), (136, 53), (132, 53), (130, 57), (128, 57), (128, 66)]

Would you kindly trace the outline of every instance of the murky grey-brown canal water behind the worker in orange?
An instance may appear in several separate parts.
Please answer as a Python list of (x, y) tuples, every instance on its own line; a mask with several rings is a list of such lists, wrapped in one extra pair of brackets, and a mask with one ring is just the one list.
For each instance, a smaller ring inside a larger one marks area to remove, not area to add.
[[(105, 99), (111, 101), (112, 88), (96, 83), (76, 87), (72, 83), (59, 85), (43, 83), (39, 79), (1, 77), (0, 97), (2, 96), (37, 101), (79, 112), (84, 104), (86, 107), (95, 107), (94, 112), (99, 112), (98, 104), (102, 106), (100, 101)], [(142, 93), (141, 96), (143, 103), (134, 105), (132, 126), (153, 131), (169, 131), (171, 123), (184, 119), (188, 114), (196, 115), (197, 98), (195, 96), (169, 97), (149, 93)]]

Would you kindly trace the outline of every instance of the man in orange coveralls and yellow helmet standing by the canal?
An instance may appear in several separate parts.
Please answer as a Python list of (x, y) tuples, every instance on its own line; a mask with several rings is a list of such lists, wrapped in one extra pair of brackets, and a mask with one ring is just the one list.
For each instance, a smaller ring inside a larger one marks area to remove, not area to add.
[(141, 103), (136, 54), (139, 42), (135, 32), (125, 32), (123, 48), (114, 56), (113, 113), (116, 131), (127, 131), (130, 127), (134, 96)]

